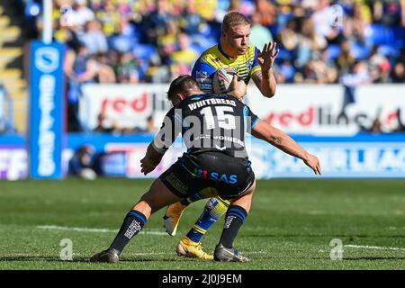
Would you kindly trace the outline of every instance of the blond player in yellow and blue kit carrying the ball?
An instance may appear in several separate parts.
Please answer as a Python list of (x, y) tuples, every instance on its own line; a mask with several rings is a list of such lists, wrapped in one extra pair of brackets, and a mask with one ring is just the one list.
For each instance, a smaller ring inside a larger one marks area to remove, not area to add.
[[(232, 68), (246, 85), (250, 78), (266, 97), (275, 95), (275, 76), (273, 65), (279, 53), (276, 43), (268, 43), (263, 50), (249, 45), (250, 21), (243, 14), (229, 12), (225, 15), (220, 43), (205, 50), (193, 67), (192, 76), (197, 80), (204, 93), (213, 93), (212, 77), (220, 67)], [(223, 179), (228, 181), (228, 179)], [(209, 191), (207, 192), (209, 193)], [(175, 236), (175, 232), (184, 209), (191, 202), (206, 198), (201, 194), (194, 194), (182, 202), (176, 202), (167, 207), (164, 216), (166, 232)], [(228, 210), (229, 201), (220, 197), (211, 198), (205, 205), (200, 218), (193, 228), (182, 238), (176, 247), (179, 256), (195, 257), (211, 260), (212, 255), (202, 249), (201, 238), (208, 229)]]

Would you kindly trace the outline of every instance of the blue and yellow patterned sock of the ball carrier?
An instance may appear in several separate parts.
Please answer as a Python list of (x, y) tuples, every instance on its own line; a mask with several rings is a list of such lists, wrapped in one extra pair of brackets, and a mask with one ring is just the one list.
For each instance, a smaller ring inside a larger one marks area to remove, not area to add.
[(211, 198), (204, 207), (200, 218), (194, 223), (193, 228), (187, 233), (186, 237), (195, 243), (201, 241), (202, 236), (211, 228), (220, 217), (225, 214), (229, 202), (218, 198)]

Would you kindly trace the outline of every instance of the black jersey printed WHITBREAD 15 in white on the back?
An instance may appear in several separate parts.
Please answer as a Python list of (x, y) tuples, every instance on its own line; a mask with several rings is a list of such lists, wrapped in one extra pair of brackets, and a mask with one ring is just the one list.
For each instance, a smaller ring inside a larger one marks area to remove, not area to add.
[(187, 153), (221, 151), (247, 157), (245, 132), (257, 123), (257, 115), (227, 94), (194, 94), (166, 113), (154, 147), (163, 153), (182, 133)]

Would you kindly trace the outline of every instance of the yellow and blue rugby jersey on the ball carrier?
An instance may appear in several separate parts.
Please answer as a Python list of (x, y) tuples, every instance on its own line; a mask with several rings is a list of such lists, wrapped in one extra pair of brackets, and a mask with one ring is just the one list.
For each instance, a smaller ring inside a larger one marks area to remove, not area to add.
[(257, 48), (249, 45), (247, 52), (238, 58), (227, 56), (220, 48), (220, 44), (205, 50), (195, 62), (192, 71), (192, 76), (197, 80), (204, 93), (213, 93), (212, 78), (215, 71), (220, 67), (234, 69), (247, 84), (252, 74), (260, 70), (260, 65), (257, 62)]

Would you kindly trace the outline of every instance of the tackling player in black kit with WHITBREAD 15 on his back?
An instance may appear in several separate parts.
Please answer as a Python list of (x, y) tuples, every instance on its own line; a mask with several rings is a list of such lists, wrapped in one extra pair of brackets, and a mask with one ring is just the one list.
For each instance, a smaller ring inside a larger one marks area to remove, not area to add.
[(179, 76), (167, 97), (174, 107), (166, 113), (161, 129), (140, 161), (147, 175), (160, 163), (167, 148), (181, 133), (187, 151), (160, 175), (130, 212), (111, 246), (91, 257), (93, 262), (116, 263), (123, 248), (145, 226), (150, 215), (168, 204), (189, 197), (220, 196), (230, 202), (216, 261), (247, 262), (233, 241), (250, 211), (255, 192), (255, 174), (245, 148), (245, 132), (299, 157), (320, 175), (320, 162), (281, 130), (261, 121), (236, 97), (246, 94), (246, 85), (235, 76), (229, 94), (203, 94), (192, 76)]

